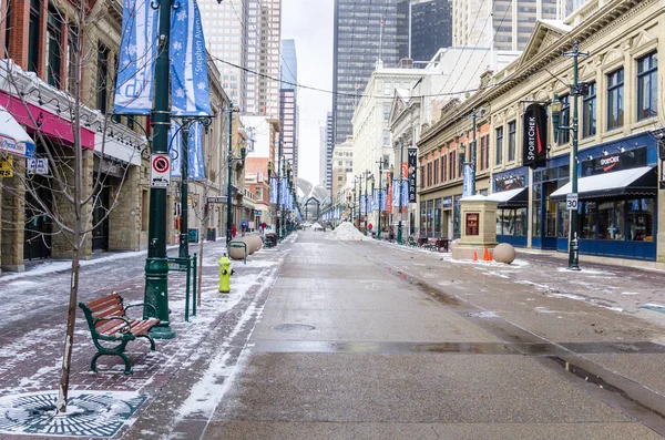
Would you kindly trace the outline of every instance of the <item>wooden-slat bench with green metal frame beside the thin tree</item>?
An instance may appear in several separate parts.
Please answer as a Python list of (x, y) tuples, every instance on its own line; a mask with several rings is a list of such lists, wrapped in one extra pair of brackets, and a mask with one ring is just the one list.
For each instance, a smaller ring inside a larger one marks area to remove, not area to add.
[[(126, 311), (132, 307), (146, 306), (156, 315), (156, 309), (151, 304), (130, 304), (125, 306), (123, 299), (115, 291), (102, 298), (90, 303), (79, 303), (83, 309), (92, 341), (98, 348), (98, 352), (92, 357), (90, 369), (96, 371), (96, 360), (101, 356), (120, 356), (125, 362), (125, 375), (132, 374), (132, 367), (127, 355), (124, 354), (125, 347), (130, 340), (145, 338), (150, 340), (150, 349), (155, 350), (155, 341), (149, 331), (155, 325), (160, 324), (157, 318), (132, 319)], [(113, 347), (104, 347), (101, 341), (120, 341)]]

